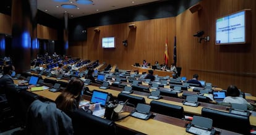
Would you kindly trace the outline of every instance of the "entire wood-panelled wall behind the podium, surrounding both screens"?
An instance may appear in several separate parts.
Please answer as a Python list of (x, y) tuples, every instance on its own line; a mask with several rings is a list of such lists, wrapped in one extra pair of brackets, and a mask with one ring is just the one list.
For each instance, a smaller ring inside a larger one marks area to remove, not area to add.
[[(181, 76), (192, 78), (198, 73), (200, 80), (214, 86), (228, 88), (229, 84), (256, 96), (256, 1), (255, 0), (202, 0), (201, 10), (189, 10), (177, 17), (159, 18), (140, 22), (100, 26), (100, 33), (88, 28), (87, 41), (70, 44), (70, 55), (80, 54), (83, 59), (117, 64), (120, 69), (130, 69), (135, 62), (164, 61), (164, 44), (168, 38), (169, 64), (173, 62), (174, 36), (177, 37), (177, 66)], [(215, 19), (242, 9), (252, 9), (252, 39), (250, 44), (215, 45)], [(135, 23), (135, 30), (128, 25)], [(210, 41), (198, 43), (193, 35), (203, 30)], [(116, 49), (102, 49), (101, 38), (116, 37)], [(122, 45), (127, 39), (128, 46)], [(82, 49), (82, 53), (77, 53)]]

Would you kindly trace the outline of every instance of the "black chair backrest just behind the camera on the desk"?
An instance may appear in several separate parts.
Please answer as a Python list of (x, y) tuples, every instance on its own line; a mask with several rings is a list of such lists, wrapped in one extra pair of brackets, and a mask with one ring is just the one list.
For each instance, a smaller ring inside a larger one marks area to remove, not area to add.
[(129, 94), (119, 93), (117, 96), (118, 100), (126, 101), (127, 99), (130, 104), (132, 104), (133, 107), (136, 107), (138, 103), (146, 104), (144, 97), (138, 97), (138, 96), (132, 96)]

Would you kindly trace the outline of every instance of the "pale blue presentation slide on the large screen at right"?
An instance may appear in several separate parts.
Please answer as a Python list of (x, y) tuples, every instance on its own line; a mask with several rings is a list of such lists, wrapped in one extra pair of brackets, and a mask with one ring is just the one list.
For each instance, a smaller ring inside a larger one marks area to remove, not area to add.
[(216, 20), (216, 44), (245, 42), (245, 11)]

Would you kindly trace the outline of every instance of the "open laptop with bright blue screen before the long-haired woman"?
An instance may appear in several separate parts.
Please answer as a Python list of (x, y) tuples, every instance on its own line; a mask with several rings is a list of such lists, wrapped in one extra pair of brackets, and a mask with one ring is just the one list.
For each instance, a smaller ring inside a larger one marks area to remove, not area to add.
[(108, 99), (108, 92), (93, 90), (92, 99), (91, 99), (91, 102), (93, 104), (101, 103), (101, 105), (105, 106), (107, 99)]

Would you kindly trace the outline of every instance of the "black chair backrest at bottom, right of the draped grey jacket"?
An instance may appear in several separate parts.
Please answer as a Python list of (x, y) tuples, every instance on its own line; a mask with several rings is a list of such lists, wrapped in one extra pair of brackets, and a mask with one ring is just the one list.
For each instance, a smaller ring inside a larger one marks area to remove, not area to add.
[[(75, 135), (83, 134), (117, 134), (114, 121), (96, 117), (84, 110), (75, 110), (70, 116)], [(96, 130), (93, 130), (95, 129)]]

